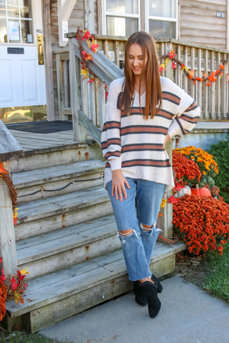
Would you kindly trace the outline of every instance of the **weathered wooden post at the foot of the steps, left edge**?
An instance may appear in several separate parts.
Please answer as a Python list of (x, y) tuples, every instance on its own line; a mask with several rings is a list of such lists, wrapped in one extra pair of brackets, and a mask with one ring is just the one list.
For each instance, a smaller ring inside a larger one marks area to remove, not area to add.
[(5, 275), (17, 273), (13, 208), (8, 186), (0, 180), (0, 257)]

